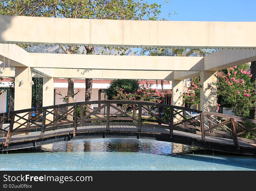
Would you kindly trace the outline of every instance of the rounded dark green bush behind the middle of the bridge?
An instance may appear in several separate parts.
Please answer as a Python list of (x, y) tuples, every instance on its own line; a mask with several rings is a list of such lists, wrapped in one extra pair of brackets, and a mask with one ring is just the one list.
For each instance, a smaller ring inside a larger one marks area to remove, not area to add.
[(106, 89), (106, 95), (108, 99), (115, 99), (114, 97), (117, 96), (118, 90), (123, 89), (123, 92), (127, 94), (136, 93), (137, 90), (140, 88), (138, 80), (113, 80), (111, 81), (109, 88)]

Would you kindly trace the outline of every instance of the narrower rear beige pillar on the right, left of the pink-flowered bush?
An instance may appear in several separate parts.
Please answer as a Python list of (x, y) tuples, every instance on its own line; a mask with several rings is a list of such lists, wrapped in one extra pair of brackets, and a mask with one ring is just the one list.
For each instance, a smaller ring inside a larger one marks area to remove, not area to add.
[[(183, 80), (172, 80), (172, 105), (183, 107)], [(179, 112), (180, 110), (177, 111)], [(175, 117), (177, 118), (174, 119), (175, 123), (183, 120), (180, 115), (175, 115)]]

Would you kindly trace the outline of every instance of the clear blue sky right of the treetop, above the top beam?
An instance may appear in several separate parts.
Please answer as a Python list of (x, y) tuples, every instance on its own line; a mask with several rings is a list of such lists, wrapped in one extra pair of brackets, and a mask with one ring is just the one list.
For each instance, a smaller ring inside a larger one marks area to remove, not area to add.
[[(163, 4), (160, 17), (171, 21), (256, 21), (256, 0), (147, 0)], [(176, 11), (177, 15), (173, 15)], [(166, 16), (172, 13), (170, 17)]]

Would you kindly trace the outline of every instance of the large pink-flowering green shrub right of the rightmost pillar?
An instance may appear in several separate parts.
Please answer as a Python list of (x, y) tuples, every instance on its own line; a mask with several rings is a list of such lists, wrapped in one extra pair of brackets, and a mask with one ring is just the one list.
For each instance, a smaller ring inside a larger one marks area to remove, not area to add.
[(254, 83), (250, 83), (252, 74), (247, 64), (234, 66), (216, 73), (218, 85), (218, 108), (231, 109), (240, 117), (248, 117), (249, 110), (254, 106)]

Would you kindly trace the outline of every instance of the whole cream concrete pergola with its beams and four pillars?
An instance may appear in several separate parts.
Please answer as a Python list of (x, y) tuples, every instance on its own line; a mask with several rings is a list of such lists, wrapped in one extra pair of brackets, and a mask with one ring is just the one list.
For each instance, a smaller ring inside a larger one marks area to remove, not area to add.
[[(217, 112), (215, 72), (256, 60), (256, 22), (67, 19), (0, 15), (0, 75), (15, 76), (15, 110), (31, 108), (32, 77), (44, 76), (43, 106), (54, 105), (54, 78), (172, 80), (201, 76), (201, 110)], [(65, 31), (65, 32), (63, 32)], [(29, 53), (16, 44), (221, 49), (205, 57)], [(8, 60), (8, 62), (7, 62)], [(92, 64), (93, 63), (93, 64)], [(96, 63), (96, 64), (95, 64)], [(23, 83), (20, 83), (25, 79)], [(48, 86), (48, 87), (47, 87)], [(46, 88), (47, 87), (47, 88)]]

